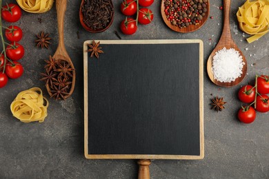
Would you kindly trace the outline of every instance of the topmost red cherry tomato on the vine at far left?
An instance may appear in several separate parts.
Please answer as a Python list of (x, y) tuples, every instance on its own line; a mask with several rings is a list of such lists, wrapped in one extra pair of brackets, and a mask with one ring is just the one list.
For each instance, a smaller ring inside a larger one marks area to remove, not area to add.
[(21, 19), (21, 8), (14, 3), (3, 6), (1, 13), (3, 19), (7, 22), (17, 22)]

